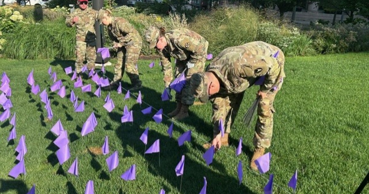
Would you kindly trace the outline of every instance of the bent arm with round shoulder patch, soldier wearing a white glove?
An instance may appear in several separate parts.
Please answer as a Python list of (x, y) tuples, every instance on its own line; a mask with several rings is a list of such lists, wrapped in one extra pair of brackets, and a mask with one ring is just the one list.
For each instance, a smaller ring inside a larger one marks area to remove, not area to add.
[(204, 55), (206, 55), (206, 49), (204, 48), (204, 45), (202, 42), (195, 40), (192, 37), (189, 37), (187, 35), (182, 35), (179, 37), (178, 46), (182, 48), (183, 50), (192, 52), (190, 62), (196, 63), (199, 61)]

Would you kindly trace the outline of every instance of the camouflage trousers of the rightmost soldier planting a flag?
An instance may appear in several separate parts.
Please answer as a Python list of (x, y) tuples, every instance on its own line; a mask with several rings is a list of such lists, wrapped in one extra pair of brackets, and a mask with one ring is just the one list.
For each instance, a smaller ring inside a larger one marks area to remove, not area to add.
[[(258, 104), (257, 116), (255, 126), (255, 134), (253, 143), (255, 147), (268, 148), (273, 135), (273, 114), (275, 109), (273, 107), (274, 98), (277, 92), (282, 87), (282, 82), (279, 83), (276, 90), (267, 93), (264, 99), (261, 99)], [(225, 133), (231, 132), (231, 127), (237, 116), (239, 107), (244, 98), (244, 92), (235, 93), (231, 95), (216, 96), (210, 101), (213, 103), (213, 123), (214, 135), (219, 134), (219, 120), (222, 119), (225, 125)]]

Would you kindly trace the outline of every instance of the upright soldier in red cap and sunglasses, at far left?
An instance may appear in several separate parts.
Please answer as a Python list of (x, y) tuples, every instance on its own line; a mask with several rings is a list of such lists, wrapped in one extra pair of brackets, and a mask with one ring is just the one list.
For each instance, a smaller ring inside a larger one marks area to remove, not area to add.
[(95, 68), (96, 61), (96, 34), (94, 23), (97, 11), (88, 7), (87, 0), (78, 0), (79, 9), (69, 14), (65, 20), (68, 27), (76, 26), (76, 72), (81, 72), (85, 55), (87, 68)]

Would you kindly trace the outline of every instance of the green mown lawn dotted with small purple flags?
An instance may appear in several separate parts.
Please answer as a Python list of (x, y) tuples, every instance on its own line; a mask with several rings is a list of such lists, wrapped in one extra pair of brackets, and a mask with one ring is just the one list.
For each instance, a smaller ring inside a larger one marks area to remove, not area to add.
[[(156, 60), (140, 60), (138, 67), (144, 88), (142, 99), (154, 108), (163, 108), (164, 113), (175, 108), (175, 102), (161, 101), (163, 81), (161, 67)], [(159, 193), (161, 188), (167, 193), (179, 193), (181, 177), (175, 174), (175, 167), (185, 155), (184, 175), (181, 193), (199, 193), (203, 187), (203, 177), (207, 178), (207, 193), (263, 193), (270, 174), (274, 174), (274, 193), (292, 193), (287, 183), (294, 171), (298, 171), (297, 193), (354, 193), (369, 171), (369, 53), (320, 55), (314, 57), (287, 58), (286, 79), (275, 99), (274, 135), (270, 170), (260, 175), (249, 169), (252, 155), (253, 129), (246, 129), (241, 119), (248, 106), (255, 99), (257, 87), (250, 88), (244, 98), (239, 115), (231, 133), (231, 146), (222, 147), (207, 166), (202, 158), (205, 150), (202, 144), (210, 141), (211, 104), (190, 108), (190, 118), (175, 123), (173, 138), (166, 130), (171, 120), (164, 118), (161, 124), (152, 120), (155, 111), (143, 115), (136, 99), (124, 100), (124, 94), (110, 92), (115, 109), (108, 113), (103, 108), (108, 92), (100, 98), (93, 95), (96, 86), (90, 79), (84, 84), (93, 84), (92, 92), (82, 93), (73, 87), (73, 81), (63, 68), (74, 65), (74, 61), (0, 60), (0, 73), (5, 71), (12, 88), (12, 114), (17, 115), (17, 139), (8, 144), (11, 130), (9, 122), (0, 123), (0, 193), (24, 194), (36, 184), (37, 193), (62, 194), (84, 193), (88, 180), (94, 181), (95, 193)], [(67, 86), (67, 96), (62, 99), (49, 90), (52, 84), (47, 70), (56, 71), (58, 79)], [(36, 84), (41, 91), (47, 88), (51, 98), (54, 118), (46, 122), (47, 113), (39, 95), (30, 93), (27, 76), (34, 69)], [(107, 67), (107, 76), (113, 77), (113, 67)], [(124, 75), (123, 87), (130, 86)], [(69, 94), (74, 90), (80, 101), (85, 101), (85, 112), (76, 113)], [(137, 95), (137, 92), (133, 93)], [(174, 93), (172, 92), (172, 95)], [(134, 112), (134, 123), (121, 123), (124, 105)], [(3, 110), (1, 109), (1, 112)], [(98, 125), (93, 133), (82, 137), (80, 129), (87, 117), (94, 112)], [(55, 156), (57, 147), (52, 143), (56, 136), (49, 130), (61, 119), (70, 139), (71, 157), (62, 166)], [(255, 125), (255, 120), (252, 125)], [(142, 132), (149, 127), (148, 146), (160, 139), (161, 153), (146, 154), (145, 145), (139, 140)], [(183, 132), (192, 130), (192, 142), (179, 147), (177, 138)], [(15, 147), (21, 135), (25, 135), (28, 148), (25, 154), (27, 174), (17, 179), (8, 177), (15, 161)], [(87, 147), (100, 148), (104, 137), (109, 137), (110, 153), (95, 155)], [(238, 140), (243, 137), (243, 153), (235, 157)], [(108, 171), (106, 158), (118, 151), (120, 164), (112, 172)], [(70, 165), (78, 157), (79, 177), (67, 173)], [(237, 165), (242, 160), (244, 180), (238, 184)], [(136, 180), (124, 181), (120, 178), (132, 164), (137, 165)], [(363, 193), (369, 193), (367, 186)]]

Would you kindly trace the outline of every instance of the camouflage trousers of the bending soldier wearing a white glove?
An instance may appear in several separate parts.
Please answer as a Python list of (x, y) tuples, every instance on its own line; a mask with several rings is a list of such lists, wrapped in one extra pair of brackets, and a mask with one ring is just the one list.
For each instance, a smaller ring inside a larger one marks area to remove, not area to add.
[[(176, 68), (175, 68), (175, 75), (176, 78), (178, 78), (182, 72), (187, 68), (187, 61), (176, 61)], [(192, 74), (197, 72), (204, 71), (205, 68), (205, 62), (206, 62), (206, 55), (204, 55), (198, 62), (195, 63), (194, 67), (188, 69), (185, 72), (187, 82), (183, 86), (183, 89), (181, 92), (176, 93), (176, 102), (181, 102), (184, 105), (193, 105), (193, 102), (195, 101), (195, 97), (193, 96), (193, 93), (191, 92), (191, 85), (190, 85), (190, 79)]]

